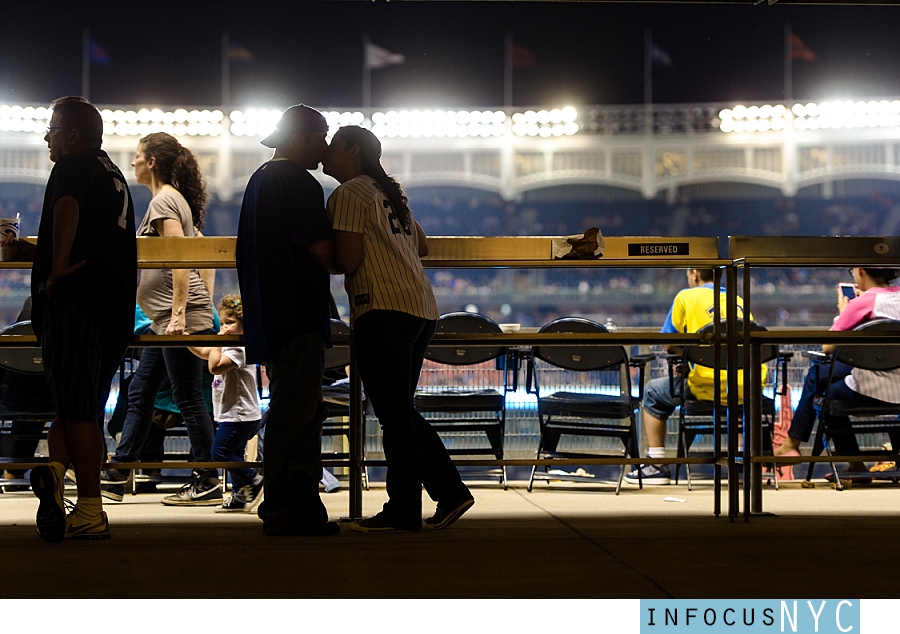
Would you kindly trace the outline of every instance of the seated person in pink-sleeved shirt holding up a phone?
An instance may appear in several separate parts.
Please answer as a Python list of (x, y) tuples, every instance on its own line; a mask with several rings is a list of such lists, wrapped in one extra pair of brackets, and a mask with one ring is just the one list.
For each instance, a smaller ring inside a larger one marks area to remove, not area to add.
[[(853, 330), (873, 319), (900, 320), (900, 287), (891, 284), (900, 275), (898, 269), (853, 267), (850, 275), (853, 284), (838, 285), (838, 316), (834, 318), (830, 330)], [(822, 347), (826, 353), (834, 352), (834, 349), (833, 344)], [(813, 398), (828, 385), (827, 381), (827, 374), (819, 376), (814, 368), (810, 368), (788, 437), (775, 449), (776, 456), (790, 455), (792, 452), (796, 455), (801, 443), (809, 440), (816, 420)], [(830, 389), (831, 395), (841, 400), (900, 403), (900, 370), (873, 372), (838, 363)], [(859, 453), (859, 444), (853, 434), (835, 436), (834, 446), (839, 454)], [(848, 468), (848, 471), (865, 470), (862, 462), (852, 462)], [(866, 480), (865, 476), (851, 479), (857, 482)]]

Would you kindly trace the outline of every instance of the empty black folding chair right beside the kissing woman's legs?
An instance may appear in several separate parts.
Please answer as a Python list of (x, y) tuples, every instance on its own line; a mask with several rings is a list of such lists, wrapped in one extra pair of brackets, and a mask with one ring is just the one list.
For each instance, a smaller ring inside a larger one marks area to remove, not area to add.
[[(436, 334), (500, 334), (500, 326), (476, 313), (441, 315)], [(493, 455), (503, 459), (506, 431), (506, 393), (515, 391), (516, 372), (507, 369), (504, 346), (431, 345), (425, 353), (416, 390), (415, 406), (431, 426), (441, 433), (450, 455)], [(441, 366), (463, 367), (448, 371)], [(512, 371), (512, 387), (507, 377)], [(488, 446), (471, 447), (475, 433), (483, 433)], [(500, 468), (500, 483), (507, 488), (506, 467)]]

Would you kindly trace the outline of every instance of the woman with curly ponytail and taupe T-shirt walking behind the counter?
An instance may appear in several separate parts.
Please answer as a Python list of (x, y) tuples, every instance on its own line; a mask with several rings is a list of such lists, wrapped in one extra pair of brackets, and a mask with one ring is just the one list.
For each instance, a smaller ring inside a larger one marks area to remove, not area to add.
[[(197, 159), (178, 139), (164, 132), (145, 136), (131, 162), (137, 182), (153, 193), (138, 236), (191, 237), (203, 227), (206, 216), (206, 184)], [(213, 334), (210, 291), (197, 269), (145, 269), (141, 273), (137, 302), (151, 319), (154, 334)], [(203, 401), (202, 361), (187, 348), (145, 348), (128, 388), (128, 411), (122, 437), (113, 458), (134, 462), (152, 425), (153, 402), (163, 380), (169, 377), (172, 395), (187, 428), (194, 460), (211, 458), (213, 425)], [(222, 503), (218, 471), (197, 469), (189, 483), (163, 499), (163, 504), (212, 506)], [(110, 469), (103, 474), (104, 495), (121, 500), (124, 473)]]

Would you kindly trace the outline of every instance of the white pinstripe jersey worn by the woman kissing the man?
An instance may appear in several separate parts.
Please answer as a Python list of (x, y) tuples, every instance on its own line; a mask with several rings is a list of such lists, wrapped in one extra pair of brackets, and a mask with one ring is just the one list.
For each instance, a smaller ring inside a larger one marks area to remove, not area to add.
[(412, 217), (404, 227), (391, 210), (381, 187), (357, 176), (328, 197), (328, 216), (336, 231), (360, 233), (363, 256), (359, 268), (344, 277), (354, 319), (370, 310), (394, 310), (437, 319), (437, 302), (419, 259)]

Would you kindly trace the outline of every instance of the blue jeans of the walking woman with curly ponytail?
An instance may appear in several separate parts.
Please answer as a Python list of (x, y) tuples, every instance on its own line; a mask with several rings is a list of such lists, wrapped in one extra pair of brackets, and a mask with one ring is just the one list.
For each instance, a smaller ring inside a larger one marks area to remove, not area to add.
[[(197, 334), (213, 334), (212, 330)], [(144, 348), (138, 369), (128, 386), (128, 411), (122, 437), (116, 447), (116, 462), (135, 462), (153, 424), (156, 394), (169, 377), (172, 396), (181, 410), (184, 426), (197, 462), (212, 459), (213, 424), (203, 401), (203, 363), (187, 348)], [(216, 469), (198, 469), (207, 477), (218, 477)]]

